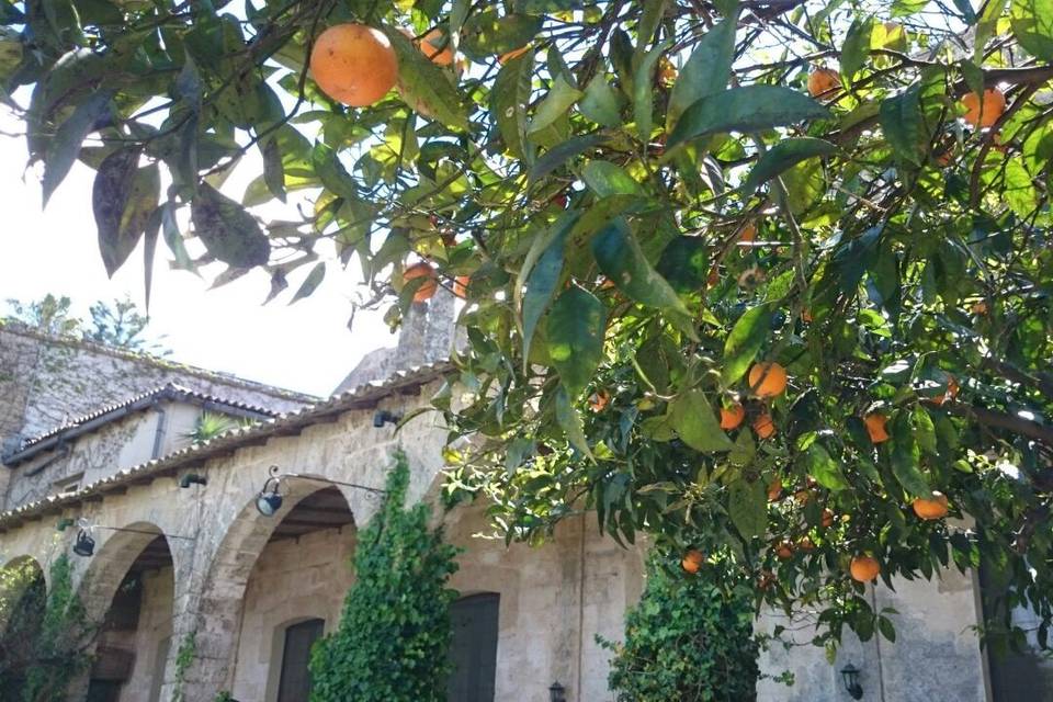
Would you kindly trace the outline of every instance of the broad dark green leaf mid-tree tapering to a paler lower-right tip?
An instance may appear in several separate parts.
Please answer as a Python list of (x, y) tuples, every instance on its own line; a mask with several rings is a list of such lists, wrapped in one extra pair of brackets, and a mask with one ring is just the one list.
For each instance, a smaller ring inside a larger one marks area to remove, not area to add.
[(679, 322), (681, 329), (695, 337), (687, 307), (669, 283), (647, 262), (624, 219), (619, 217), (593, 237), (592, 256), (600, 271), (619, 290), (641, 304), (671, 313), (671, 318)]

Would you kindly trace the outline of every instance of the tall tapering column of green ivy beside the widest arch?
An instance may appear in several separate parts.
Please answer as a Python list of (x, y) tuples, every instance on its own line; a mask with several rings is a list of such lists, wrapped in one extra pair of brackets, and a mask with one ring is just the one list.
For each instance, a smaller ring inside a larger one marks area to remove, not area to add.
[(312, 652), (312, 702), (446, 699), (456, 550), (429, 528), (426, 505), (405, 507), (408, 485), (399, 454), (380, 512), (359, 534), (340, 624)]

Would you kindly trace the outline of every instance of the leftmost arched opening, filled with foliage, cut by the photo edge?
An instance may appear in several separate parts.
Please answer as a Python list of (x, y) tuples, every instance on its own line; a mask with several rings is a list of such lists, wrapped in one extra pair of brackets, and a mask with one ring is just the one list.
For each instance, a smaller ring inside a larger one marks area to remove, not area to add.
[(44, 621), (47, 586), (31, 556), (0, 568), (0, 700), (21, 700)]

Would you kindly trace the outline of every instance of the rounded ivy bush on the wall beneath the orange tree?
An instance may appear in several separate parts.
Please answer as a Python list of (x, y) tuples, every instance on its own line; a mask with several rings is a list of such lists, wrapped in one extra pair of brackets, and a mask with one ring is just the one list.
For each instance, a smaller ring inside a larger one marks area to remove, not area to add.
[(639, 603), (625, 619), (610, 686), (622, 702), (746, 702), (756, 699), (752, 588), (714, 561), (689, 575), (680, 554), (655, 552)]

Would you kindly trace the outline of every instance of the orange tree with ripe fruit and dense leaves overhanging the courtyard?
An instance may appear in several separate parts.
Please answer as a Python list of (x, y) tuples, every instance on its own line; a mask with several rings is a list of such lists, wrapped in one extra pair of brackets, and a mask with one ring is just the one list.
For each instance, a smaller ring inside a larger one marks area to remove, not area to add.
[(465, 297), (451, 488), (509, 539), (731, 554), (831, 645), (983, 563), (1044, 641), (1053, 2), (974, 5), (2, 0), (0, 77), (111, 272)]

